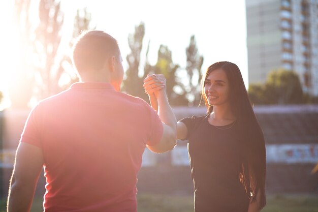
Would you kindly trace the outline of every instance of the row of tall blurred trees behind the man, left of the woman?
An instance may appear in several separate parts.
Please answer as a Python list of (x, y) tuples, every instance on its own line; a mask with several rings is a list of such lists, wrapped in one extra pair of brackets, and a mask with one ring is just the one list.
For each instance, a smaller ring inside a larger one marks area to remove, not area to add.
[[(19, 36), (19, 47), (21, 53), (18, 58), (17, 78), (12, 83), (15, 92), (11, 92), (12, 106), (25, 107), (31, 97), (38, 100), (57, 94), (66, 89), (73, 82), (78, 81), (70, 67), (71, 59), (69, 52), (61, 52), (61, 33), (64, 14), (60, 10), (60, 1), (41, 0), (39, 2), (39, 23), (30, 21), (30, 0), (15, 0), (14, 17), (16, 32)], [(34, 14), (33, 14), (34, 15)], [(73, 26), (74, 39), (82, 31), (94, 29), (90, 24), (90, 13), (86, 9), (77, 11)], [(197, 104), (200, 97), (198, 89), (201, 79), (201, 68), (203, 56), (199, 55), (195, 36), (190, 38), (189, 46), (186, 48), (187, 79), (181, 79), (178, 74), (181, 70), (178, 64), (172, 60), (172, 52), (168, 46), (161, 45), (158, 49), (157, 62), (151, 65), (148, 62), (148, 42), (146, 55), (141, 55), (145, 25), (140, 23), (135, 27), (135, 32), (128, 37), (130, 54), (126, 56), (128, 69), (122, 90), (128, 94), (148, 100), (142, 86), (143, 79), (147, 74), (164, 74), (167, 78), (167, 93), (171, 104), (187, 105)], [(140, 64), (140, 58), (145, 56), (145, 64)], [(183, 70), (184, 71), (184, 70)], [(16, 90), (20, 87), (20, 90)], [(21, 98), (21, 95), (23, 97)]]

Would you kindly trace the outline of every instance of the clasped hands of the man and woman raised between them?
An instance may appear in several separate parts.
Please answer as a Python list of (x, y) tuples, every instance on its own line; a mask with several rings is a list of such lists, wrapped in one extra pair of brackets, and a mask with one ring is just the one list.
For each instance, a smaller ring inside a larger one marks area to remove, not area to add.
[(163, 74), (148, 74), (143, 86), (149, 97), (154, 95), (155, 98), (158, 98), (160, 92), (166, 93), (166, 78)]

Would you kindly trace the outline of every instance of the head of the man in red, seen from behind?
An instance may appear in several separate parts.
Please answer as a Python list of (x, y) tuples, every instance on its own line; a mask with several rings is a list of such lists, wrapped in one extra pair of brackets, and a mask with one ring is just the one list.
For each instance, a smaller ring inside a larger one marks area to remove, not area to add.
[[(81, 79), (107, 76), (115, 88), (120, 87), (123, 68), (117, 41), (103, 31), (82, 33), (73, 46), (73, 65)], [(103, 79), (100, 79), (103, 81)]]

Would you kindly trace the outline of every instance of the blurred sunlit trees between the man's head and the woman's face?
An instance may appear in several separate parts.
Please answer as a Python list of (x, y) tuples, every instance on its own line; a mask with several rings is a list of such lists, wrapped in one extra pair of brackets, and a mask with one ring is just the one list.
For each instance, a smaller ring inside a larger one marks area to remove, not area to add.
[(188, 105), (188, 103), (198, 103), (200, 100), (200, 79), (202, 77), (201, 67), (203, 57), (198, 54), (195, 36), (190, 38), (189, 46), (186, 48), (187, 65), (186, 72), (188, 83), (184, 83), (177, 77), (180, 66), (172, 60), (172, 52), (166, 45), (160, 45), (158, 58), (155, 65), (148, 62), (149, 43), (146, 51), (146, 63), (144, 70), (140, 69), (140, 58), (142, 51), (145, 26), (140, 23), (135, 27), (134, 34), (128, 37), (131, 53), (126, 56), (129, 68), (126, 71), (122, 89), (133, 96), (138, 96), (148, 101), (148, 97), (142, 86), (143, 80), (148, 74), (163, 74), (167, 79), (167, 96), (171, 105)]

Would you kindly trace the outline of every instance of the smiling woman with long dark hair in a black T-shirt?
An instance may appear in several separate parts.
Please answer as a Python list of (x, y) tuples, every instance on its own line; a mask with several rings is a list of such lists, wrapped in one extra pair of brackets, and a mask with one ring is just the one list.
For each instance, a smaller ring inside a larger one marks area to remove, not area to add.
[[(165, 92), (162, 75), (144, 80), (153, 108)], [(202, 80), (207, 114), (183, 118), (177, 138), (188, 140), (195, 211), (260, 211), (265, 198), (265, 142), (239, 68), (211, 65)]]

